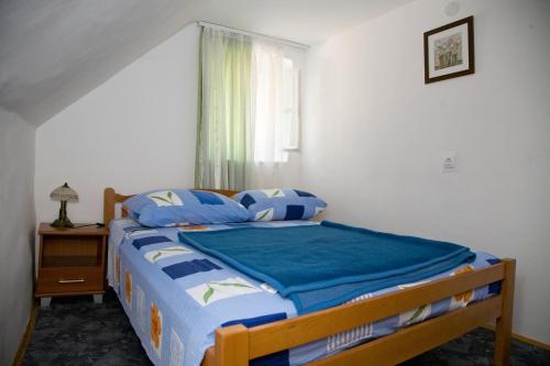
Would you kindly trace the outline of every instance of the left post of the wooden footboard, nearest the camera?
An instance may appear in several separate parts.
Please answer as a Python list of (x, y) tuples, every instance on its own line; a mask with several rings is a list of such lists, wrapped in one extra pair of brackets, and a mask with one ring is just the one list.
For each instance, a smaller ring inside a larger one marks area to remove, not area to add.
[(242, 324), (216, 330), (215, 366), (249, 365), (249, 330)]

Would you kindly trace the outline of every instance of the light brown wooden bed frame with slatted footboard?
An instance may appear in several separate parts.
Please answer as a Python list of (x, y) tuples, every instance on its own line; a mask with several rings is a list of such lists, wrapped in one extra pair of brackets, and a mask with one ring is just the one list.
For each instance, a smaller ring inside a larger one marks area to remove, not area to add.
[[(224, 196), (235, 192), (213, 190)], [(114, 207), (132, 196), (105, 190), (103, 222), (114, 219)], [(122, 213), (124, 215), (124, 212)], [(514, 306), (515, 259), (415, 286), (363, 301), (342, 304), (310, 314), (254, 328), (238, 324), (216, 331), (216, 343), (202, 361), (204, 366), (244, 366), (249, 361), (345, 332), (387, 317), (462, 293), (495, 281), (502, 290), (483, 301), (446, 313), (393, 334), (356, 345), (310, 365), (396, 365), (420, 355), (475, 328), (496, 320), (493, 364), (510, 364), (512, 313)]]

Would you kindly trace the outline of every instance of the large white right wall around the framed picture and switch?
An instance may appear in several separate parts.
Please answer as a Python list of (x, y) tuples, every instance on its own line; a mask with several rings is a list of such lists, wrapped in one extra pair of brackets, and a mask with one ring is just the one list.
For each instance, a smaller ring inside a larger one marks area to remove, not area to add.
[[(310, 49), (302, 182), (329, 219), (516, 257), (514, 331), (550, 343), (550, 1), (448, 2)], [(472, 14), (475, 75), (425, 85), (422, 33)]]

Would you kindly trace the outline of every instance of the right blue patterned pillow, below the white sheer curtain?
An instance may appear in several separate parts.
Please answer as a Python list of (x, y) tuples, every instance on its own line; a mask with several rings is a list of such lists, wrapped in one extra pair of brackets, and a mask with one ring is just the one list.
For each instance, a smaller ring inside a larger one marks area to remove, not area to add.
[(233, 199), (249, 210), (251, 221), (307, 220), (327, 208), (323, 200), (297, 189), (252, 189)]

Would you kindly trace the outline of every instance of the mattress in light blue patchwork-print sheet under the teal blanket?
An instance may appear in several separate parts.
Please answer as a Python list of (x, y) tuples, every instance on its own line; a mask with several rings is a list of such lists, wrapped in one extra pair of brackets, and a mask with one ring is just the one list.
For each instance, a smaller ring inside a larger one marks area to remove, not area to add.
[[(315, 225), (311, 221), (248, 222), (189, 228), (143, 228), (113, 220), (109, 236), (109, 285), (117, 292), (135, 333), (155, 365), (200, 365), (220, 326), (260, 325), (297, 317), (294, 303), (276, 290), (195, 247), (178, 243), (182, 231)], [(435, 279), (490, 266), (498, 259), (476, 252), (474, 262), (414, 284), (363, 293), (355, 302)], [(253, 361), (255, 365), (302, 365), (410, 324), (483, 300), (498, 289), (484, 286), (452, 298), (365, 324), (289, 351)]]

